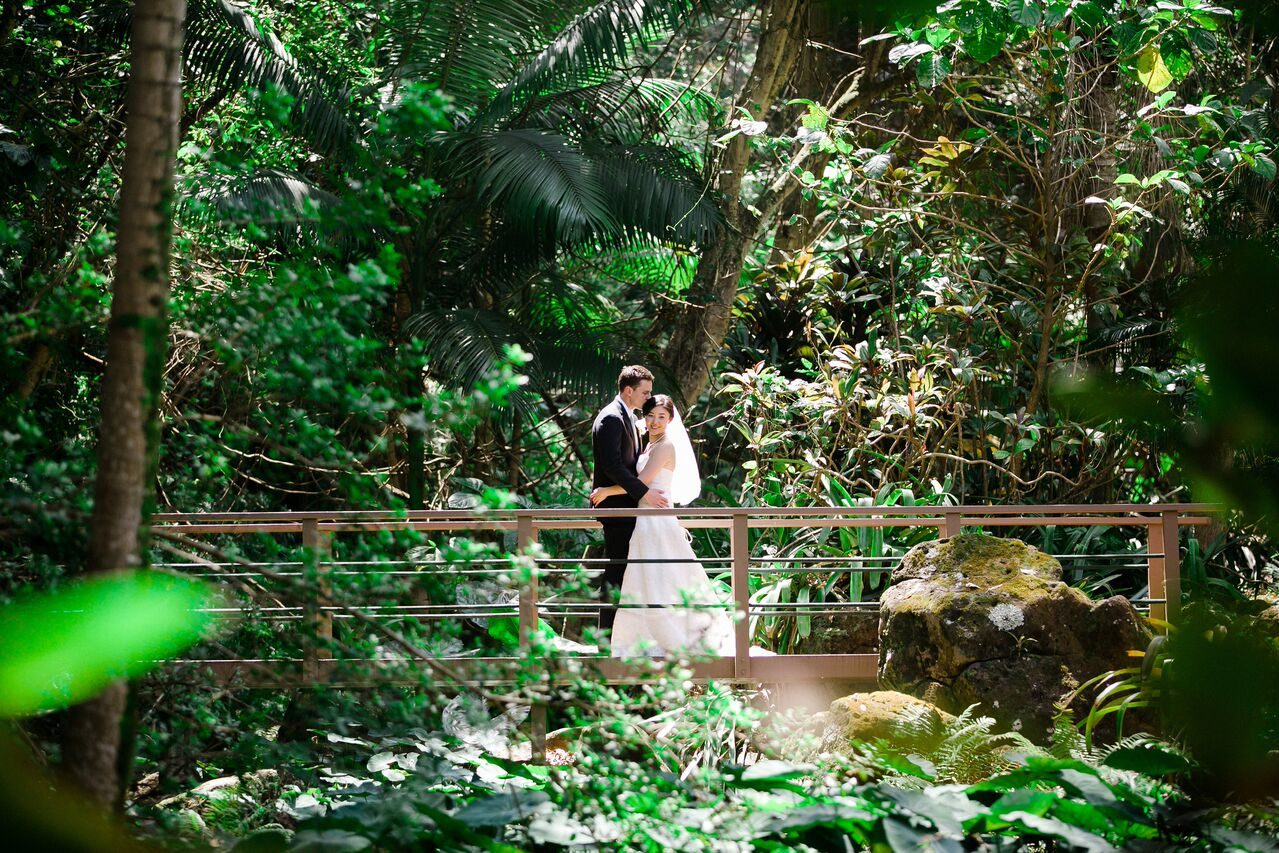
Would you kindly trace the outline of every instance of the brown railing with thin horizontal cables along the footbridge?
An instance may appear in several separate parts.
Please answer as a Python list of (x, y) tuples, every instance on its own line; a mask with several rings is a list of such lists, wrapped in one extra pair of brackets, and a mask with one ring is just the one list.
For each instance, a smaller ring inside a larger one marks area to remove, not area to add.
[[(333, 656), (334, 620), (350, 618), (349, 606), (335, 606), (330, 599), (330, 584), (338, 574), (359, 574), (366, 570), (359, 565), (343, 564), (331, 559), (335, 537), (353, 533), (377, 533), (390, 531), (418, 531), (422, 533), (494, 533), (508, 537), (513, 535), (514, 550), (524, 554), (535, 567), (527, 573), (518, 590), (518, 601), (513, 607), (506, 605), (472, 605), (469, 609), (459, 605), (441, 606), (439, 604), (409, 605), (386, 609), (395, 618), (439, 619), (439, 618), (518, 618), (521, 643), (530, 642), (540, 619), (549, 614), (556, 616), (591, 618), (597, 607), (591, 605), (565, 605), (551, 597), (547, 601), (540, 596), (540, 581), (554, 572), (559, 563), (591, 564), (592, 560), (568, 559), (554, 554), (538, 552), (535, 546), (550, 533), (558, 531), (599, 529), (601, 517), (624, 515), (677, 515), (689, 529), (719, 529), (728, 533), (726, 556), (718, 558), (726, 563), (726, 574), (732, 588), (732, 607), (737, 613), (735, 653), (732, 657), (698, 660), (693, 664), (694, 677), (701, 679), (734, 679), (756, 683), (798, 682), (810, 679), (847, 679), (874, 682), (879, 662), (877, 652), (866, 650), (852, 653), (822, 655), (752, 655), (751, 625), (752, 616), (778, 615), (817, 615), (839, 609), (838, 604), (821, 602), (816, 606), (792, 604), (752, 604), (751, 574), (767, 573), (765, 564), (783, 561), (794, 564), (794, 559), (776, 560), (765, 554), (752, 555), (752, 532), (778, 531), (783, 528), (932, 528), (938, 538), (955, 536), (964, 529), (987, 531), (998, 535), (1001, 528), (1037, 527), (1088, 527), (1110, 526), (1132, 528), (1134, 537), (1143, 540), (1145, 551), (1129, 556), (1146, 565), (1147, 595), (1134, 601), (1157, 619), (1175, 620), (1181, 602), (1181, 529), (1188, 526), (1212, 523), (1218, 508), (1207, 504), (1111, 504), (1111, 505), (1041, 505), (1041, 506), (812, 506), (812, 508), (678, 508), (668, 510), (654, 509), (517, 509), (517, 510), (418, 510), (408, 513), (388, 512), (333, 512), (333, 513), (197, 513), (161, 514), (153, 524), (161, 537), (180, 537), (194, 542), (210, 536), (267, 535), (274, 537), (299, 537), (304, 564), (293, 564), (294, 577), (304, 578), (308, 584), (308, 600), (297, 605), (280, 604), (272, 607), (279, 618), (302, 619), (310, 623), (310, 633), (320, 642), (308, 643), (301, 660), (266, 659), (214, 659), (198, 661), (200, 666), (221, 679), (234, 679), (243, 685), (279, 685), (283, 683), (280, 669), (293, 666), (295, 674), (288, 680), (294, 684), (372, 684), (394, 680), (391, 670), (363, 670), (362, 675), (344, 674), (350, 661), (339, 661)], [(723, 536), (723, 532), (719, 535)], [(173, 551), (170, 551), (173, 552)], [(857, 560), (849, 556), (849, 560)], [(824, 559), (813, 572), (831, 572), (833, 559)], [(593, 563), (601, 563), (593, 560)], [(712, 561), (707, 558), (707, 561)], [(205, 569), (216, 561), (201, 558), (200, 568)], [(179, 568), (183, 564), (169, 563)], [(194, 567), (196, 564), (185, 564)], [(225, 564), (224, 564), (225, 565)], [(252, 577), (255, 570), (281, 574), (283, 564), (272, 564), (274, 569), (261, 564), (238, 563), (228, 567), (238, 578)], [(880, 564), (871, 570), (890, 570), (891, 565)], [(445, 572), (451, 572), (444, 567)], [(773, 569), (774, 572), (776, 569)], [(807, 569), (806, 569), (807, 570)], [(836, 569), (838, 570), (838, 569)], [(844, 568), (844, 570), (857, 570)], [(862, 565), (862, 570), (865, 565)], [(289, 574), (283, 572), (283, 574)], [(420, 568), (409, 567), (402, 574), (421, 574)], [(212, 573), (216, 579), (217, 573)], [(851, 604), (851, 602), (849, 602)], [(432, 609), (434, 607), (434, 609)], [(574, 609), (576, 607), (576, 609)], [(238, 610), (237, 607), (228, 607)], [(363, 611), (357, 613), (361, 615)], [(375, 616), (368, 616), (375, 614)], [(385, 615), (377, 607), (363, 613), (362, 618)], [(437, 660), (450, 660), (440, 656)], [(480, 673), (481, 679), (491, 679), (494, 668), (500, 671), (503, 665), (518, 662), (509, 657), (466, 657), (457, 662), (466, 670)], [(601, 677), (625, 680), (636, 677), (636, 668), (622, 660), (592, 657), (592, 665)], [(194, 662), (194, 661), (192, 661)]]

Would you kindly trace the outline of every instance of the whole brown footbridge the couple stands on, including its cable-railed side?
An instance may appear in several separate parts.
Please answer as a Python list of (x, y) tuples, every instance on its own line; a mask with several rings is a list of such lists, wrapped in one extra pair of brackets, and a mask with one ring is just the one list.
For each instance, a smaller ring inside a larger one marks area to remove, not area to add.
[[(226, 684), (367, 687), (412, 683), (422, 668), (494, 683), (515, 678), (531, 643), (576, 661), (573, 671), (588, 665), (600, 678), (628, 680), (642, 669), (587, 642), (597, 604), (581, 581), (605, 561), (592, 546), (599, 518), (673, 514), (737, 614), (735, 653), (692, 661), (694, 678), (874, 682), (872, 645), (813, 651), (806, 639), (813, 625), (875, 619), (877, 592), (911, 545), (962, 532), (1017, 536), (1054, 554), (1067, 582), (1126, 591), (1138, 610), (1173, 620), (1181, 544), (1212, 526), (1216, 512), (1114, 504), (170, 513), (153, 518), (153, 544), (157, 567), (226, 587), (216, 610), (249, 638), (210, 643), (178, 662)], [(1092, 545), (1102, 541), (1111, 545)], [(432, 623), (454, 628), (449, 643), (421, 641)], [(788, 638), (779, 653), (761, 653), (765, 634)], [(377, 638), (372, 647), (368, 637)], [(546, 662), (556, 678), (555, 661)]]

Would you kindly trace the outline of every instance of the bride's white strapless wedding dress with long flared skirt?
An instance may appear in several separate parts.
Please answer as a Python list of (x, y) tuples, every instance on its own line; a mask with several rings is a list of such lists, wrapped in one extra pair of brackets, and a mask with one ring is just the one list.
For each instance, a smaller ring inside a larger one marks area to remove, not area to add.
[[(642, 472), (648, 463), (648, 451), (640, 454), (636, 463)], [(669, 492), (673, 476), (670, 468), (663, 469), (648, 486)], [(688, 533), (674, 515), (641, 515), (636, 519), (620, 604), (613, 624), (614, 657), (674, 653), (730, 657), (734, 653), (729, 599), (706, 577)]]

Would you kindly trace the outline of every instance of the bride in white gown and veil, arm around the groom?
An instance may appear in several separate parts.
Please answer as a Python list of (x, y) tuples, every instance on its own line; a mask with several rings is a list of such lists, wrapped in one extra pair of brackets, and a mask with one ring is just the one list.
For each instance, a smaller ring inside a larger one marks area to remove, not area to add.
[[(648, 446), (637, 459), (640, 480), (668, 492), (673, 504), (691, 503), (701, 492), (702, 481), (674, 402), (656, 394), (645, 403), (643, 414)], [(620, 486), (601, 486), (591, 492), (591, 504), (622, 491)], [(732, 656), (729, 614), (726, 600), (706, 577), (679, 519), (641, 515), (631, 536), (622, 606), (613, 625), (613, 656)]]

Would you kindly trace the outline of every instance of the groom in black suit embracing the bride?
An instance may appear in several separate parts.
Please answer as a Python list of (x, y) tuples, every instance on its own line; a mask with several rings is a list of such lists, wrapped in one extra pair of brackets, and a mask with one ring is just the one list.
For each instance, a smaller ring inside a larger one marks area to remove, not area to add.
[[(592, 487), (622, 486), (627, 494), (613, 495), (600, 501), (602, 509), (622, 509), (670, 506), (666, 494), (648, 489), (636, 476), (636, 458), (640, 455), (638, 409), (652, 396), (652, 373), (646, 367), (631, 364), (622, 368), (618, 376), (618, 395), (595, 416), (591, 428), (595, 453), (595, 476)], [(604, 581), (600, 596), (600, 628), (613, 630), (613, 620), (618, 615), (618, 590), (627, 572), (627, 552), (631, 550), (631, 533), (634, 532), (634, 518), (601, 518), (604, 526), (604, 552), (608, 565), (604, 568)]]

